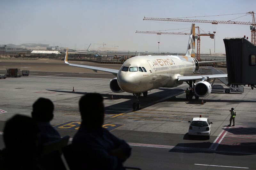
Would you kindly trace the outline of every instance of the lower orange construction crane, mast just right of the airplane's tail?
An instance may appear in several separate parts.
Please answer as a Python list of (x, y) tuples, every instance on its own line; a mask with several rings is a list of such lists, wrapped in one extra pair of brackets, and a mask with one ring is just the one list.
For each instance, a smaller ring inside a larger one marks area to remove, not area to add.
[[(197, 39), (196, 59), (198, 61), (201, 61), (201, 59), (200, 59), (200, 36), (210, 36), (210, 38), (213, 39), (214, 34), (213, 33), (201, 33), (200, 34), (199, 26), (196, 26), (195, 28), (198, 29), (197, 34), (196, 34), (196, 39)], [(155, 34), (158, 34), (158, 35), (161, 35), (161, 34), (190, 35), (190, 33), (171, 33), (171, 32), (157, 32), (157, 31), (136, 31), (135, 33), (155, 33)], [(158, 49), (159, 49), (159, 43), (160, 42), (158, 42)]]

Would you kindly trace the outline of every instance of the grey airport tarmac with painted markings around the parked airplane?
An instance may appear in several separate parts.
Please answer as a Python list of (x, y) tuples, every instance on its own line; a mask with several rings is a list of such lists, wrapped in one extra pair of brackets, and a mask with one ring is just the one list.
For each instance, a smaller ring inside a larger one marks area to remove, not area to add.
[[(121, 66), (83, 63), (113, 69)], [(188, 85), (183, 83), (176, 88), (151, 90), (148, 97), (140, 97), (142, 109), (133, 111), (132, 94), (110, 91), (112, 74), (50, 60), (1, 60), (0, 74), (10, 67), (30, 70), (30, 75), (0, 79), (0, 149), (4, 148), (5, 121), (15, 114), (30, 116), (32, 104), (39, 97), (53, 101), (55, 111), (51, 124), (61, 136), (69, 135), (71, 142), (81, 123), (80, 97), (98, 92), (104, 98), (106, 110), (103, 126), (132, 147), (126, 166), (152, 170), (256, 169), (256, 90), (251, 87), (245, 86), (244, 93), (212, 92), (203, 99), (202, 105), (201, 98), (186, 100), (184, 90)], [(234, 127), (227, 126), (231, 107), (236, 111)], [(213, 122), (209, 140), (188, 138), (188, 121), (199, 115)]]

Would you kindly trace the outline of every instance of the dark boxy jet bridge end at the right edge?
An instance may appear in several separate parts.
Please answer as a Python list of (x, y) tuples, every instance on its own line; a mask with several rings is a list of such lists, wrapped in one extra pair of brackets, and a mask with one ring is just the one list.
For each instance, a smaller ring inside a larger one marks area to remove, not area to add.
[(226, 49), (228, 83), (256, 87), (256, 46), (245, 38), (223, 39)]

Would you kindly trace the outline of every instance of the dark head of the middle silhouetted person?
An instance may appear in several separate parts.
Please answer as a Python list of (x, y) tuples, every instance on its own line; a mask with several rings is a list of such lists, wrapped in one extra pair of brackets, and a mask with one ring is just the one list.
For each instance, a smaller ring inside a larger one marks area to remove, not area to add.
[(53, 118), (54, 105), (51, 100), (39, 98), (33, 104), (32, 118), (36, 122), (50, 122)]

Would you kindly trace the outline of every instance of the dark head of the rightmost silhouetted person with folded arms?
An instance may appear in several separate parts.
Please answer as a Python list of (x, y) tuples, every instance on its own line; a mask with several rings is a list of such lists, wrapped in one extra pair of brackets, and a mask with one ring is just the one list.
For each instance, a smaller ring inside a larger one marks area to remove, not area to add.
[(85, 94), (79, 100), (79, 110), (84, 125), (95, 128), (104, 122), (103, 97), (99, 93)]

